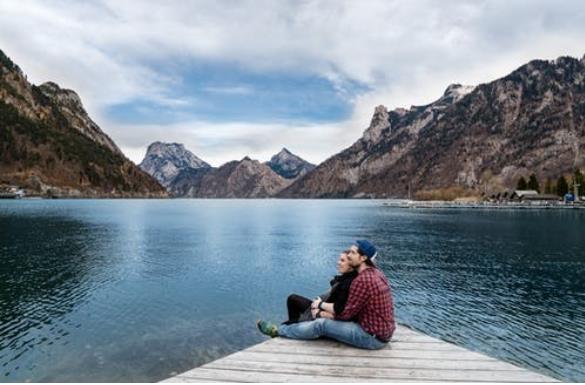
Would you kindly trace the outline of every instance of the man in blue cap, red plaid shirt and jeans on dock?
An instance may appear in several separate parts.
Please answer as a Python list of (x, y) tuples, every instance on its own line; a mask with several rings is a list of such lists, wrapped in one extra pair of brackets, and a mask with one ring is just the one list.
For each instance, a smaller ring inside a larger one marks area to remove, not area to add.
[(366, 240), (356, 241), (349, 249), (348, 259), (358, 276), (351, 284), (341, 314), (335, 314), (332, 303), (318, 298), (311, 305), (315, 320), (280, 326), (258, 321), (258, 329), (271, 337), (299, 340), (329, 337), (358, 348), (383, 348), (396, 326), (392, 292), (386, 276), (373, 262), (376, 255), (376, 248)]

